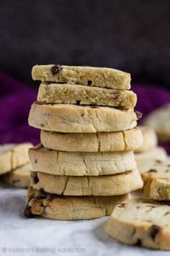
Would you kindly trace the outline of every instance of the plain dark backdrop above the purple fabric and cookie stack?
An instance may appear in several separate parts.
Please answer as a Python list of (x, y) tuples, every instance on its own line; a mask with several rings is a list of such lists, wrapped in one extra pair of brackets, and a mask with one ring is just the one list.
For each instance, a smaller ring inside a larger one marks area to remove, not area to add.
[(34, 64), (114, 67), (170, 86), (169, 0), (0, 1), (0, 70), (35, 85)]

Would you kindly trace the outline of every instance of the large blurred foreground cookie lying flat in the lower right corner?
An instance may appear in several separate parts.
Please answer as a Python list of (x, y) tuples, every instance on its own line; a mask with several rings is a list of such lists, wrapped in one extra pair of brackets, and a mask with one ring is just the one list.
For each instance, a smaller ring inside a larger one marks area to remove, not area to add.
[(170, 205), (135, 197), (115, 207), (105, 231), (124, 244), (170, 249)]

